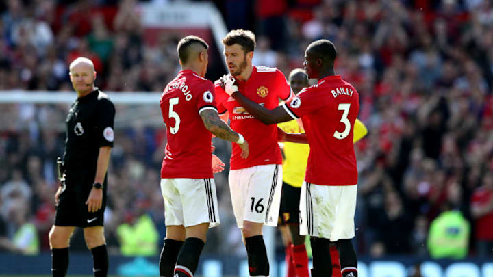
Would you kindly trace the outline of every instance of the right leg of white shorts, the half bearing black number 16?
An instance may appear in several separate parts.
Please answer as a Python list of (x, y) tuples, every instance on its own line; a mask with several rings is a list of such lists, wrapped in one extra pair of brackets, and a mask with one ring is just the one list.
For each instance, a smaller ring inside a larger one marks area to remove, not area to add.
[(244, 220), (277, 226), (282, 189), (282, 166), (256, 166), (244, 205)]

